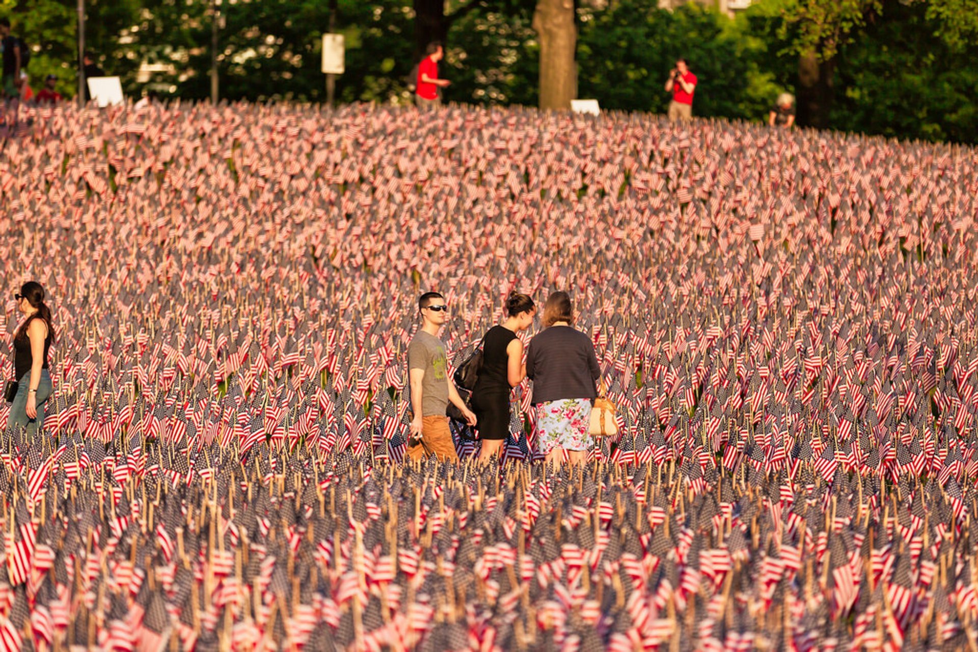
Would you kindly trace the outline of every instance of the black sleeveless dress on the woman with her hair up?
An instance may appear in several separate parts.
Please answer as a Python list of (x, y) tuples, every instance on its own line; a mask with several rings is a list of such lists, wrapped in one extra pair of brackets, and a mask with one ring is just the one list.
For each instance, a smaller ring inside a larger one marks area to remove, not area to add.
[(493, 326), (482, 344), (482, 370), (472, 389), (475, 429), (481, 439), (502, 440), (510, 436), (510, 356), (506, 348), (516, 333), (504, 326)]

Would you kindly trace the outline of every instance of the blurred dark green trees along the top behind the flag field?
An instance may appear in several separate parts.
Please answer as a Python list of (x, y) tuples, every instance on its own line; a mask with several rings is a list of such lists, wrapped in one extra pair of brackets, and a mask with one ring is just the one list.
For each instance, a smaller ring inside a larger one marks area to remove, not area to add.
[[(903, 138), (978, 143), (978, 0), (754, 0), (662, 9), (659, 0), (573, 4), (574, 96), (602, 109), (665, 110), (676, 57), (699, 78), (694, 113), (762, 120), (781, 91), (799, 122)], [(212, 25), (220, 97), (323, 102), (324, 0), (86, 0), (89, 48), (131, 96), (206, 99)], [(407, 75), (439, 38), (452, 79), (445, 99), (545, 103), (541, 10), (564, 0), (336, 0), (346, 72), (337, 102), (410, 102)], [(0, 0), (0, 15), (31, 46), (32, 84), (49, 72), (73, 94), (76, 0)], [(537, 19), (536, 23), (534, 19)], [(559, 27), (566, 29), (566, 26)], [(553, 35), (552, 35), (553, 36)], [(565, 68), (569, 65), (569, 71)], [(546, 83), (545, 83), (546, 87)], [(561, 91), (562, 92), (562, 91)], [(552, 105), (548, 105), (552, 106)]]

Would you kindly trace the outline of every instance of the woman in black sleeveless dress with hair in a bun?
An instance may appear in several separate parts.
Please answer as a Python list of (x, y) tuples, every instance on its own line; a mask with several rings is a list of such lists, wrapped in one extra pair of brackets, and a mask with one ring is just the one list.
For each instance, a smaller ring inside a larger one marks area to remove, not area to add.
[(482, 369), (472, 388), (472, 412), (482, 440), (479, 461), (499, 453), (510, 436), (510, 392), (526, 377), (523, 343), (516, 333), (533, 326), (537, 310), (529, 296), (511, 292), (506, 312), (506, 321), (482, 338)]

